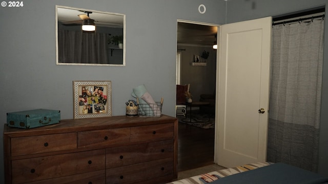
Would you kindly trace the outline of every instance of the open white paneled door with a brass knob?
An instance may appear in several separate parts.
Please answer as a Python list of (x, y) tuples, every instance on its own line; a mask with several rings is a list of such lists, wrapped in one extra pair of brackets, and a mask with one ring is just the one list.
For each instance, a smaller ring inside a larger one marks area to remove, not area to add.
[[(223, 167), (267, 156), (271, 17), (221, 27), (215, 162)], [(263, 108), (264, 113), (259, 113)]]

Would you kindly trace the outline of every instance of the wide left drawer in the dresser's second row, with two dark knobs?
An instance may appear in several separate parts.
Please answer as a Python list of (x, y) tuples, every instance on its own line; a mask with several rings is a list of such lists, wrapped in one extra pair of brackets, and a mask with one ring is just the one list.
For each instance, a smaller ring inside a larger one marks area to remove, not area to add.
[(12, 160), (12, 183), (105, 169), (105, 149)]

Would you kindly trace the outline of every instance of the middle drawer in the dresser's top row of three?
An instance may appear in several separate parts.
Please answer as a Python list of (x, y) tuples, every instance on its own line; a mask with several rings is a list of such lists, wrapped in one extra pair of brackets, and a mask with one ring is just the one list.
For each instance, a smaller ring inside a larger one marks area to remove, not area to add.
[(93, 130), (77, 133), (77, 147), (99, 147), (130, 142), (130, 128)]

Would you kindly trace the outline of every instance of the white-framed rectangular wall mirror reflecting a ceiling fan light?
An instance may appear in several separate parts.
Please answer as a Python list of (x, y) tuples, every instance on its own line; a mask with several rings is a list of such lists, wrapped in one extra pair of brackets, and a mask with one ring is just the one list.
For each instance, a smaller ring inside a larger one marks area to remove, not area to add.
[[(56, 6), (58, 65), (125, 66), (125, 15)], [(84, 31), (83, 25), (95, 25)]]

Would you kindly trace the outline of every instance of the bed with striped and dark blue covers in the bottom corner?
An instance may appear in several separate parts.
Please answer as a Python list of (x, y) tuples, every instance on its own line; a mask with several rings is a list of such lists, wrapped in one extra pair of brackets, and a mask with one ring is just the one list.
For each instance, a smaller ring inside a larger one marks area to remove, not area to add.
[(204, 183), (265, 183), (265, 184), (317, 184), (328, 183), (328, 178), (283, 163), (255, 163), (222, 169), (201, 174), (167, 184), (204, 184)]

